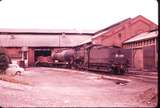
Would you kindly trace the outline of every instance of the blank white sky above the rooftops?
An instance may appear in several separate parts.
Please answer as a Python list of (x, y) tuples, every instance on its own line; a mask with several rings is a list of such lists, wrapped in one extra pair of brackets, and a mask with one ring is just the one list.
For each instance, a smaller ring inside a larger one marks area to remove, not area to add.
[(99, 30), (143, 15), (158, 24), (157, 0), (2, 0), (0, 28)]

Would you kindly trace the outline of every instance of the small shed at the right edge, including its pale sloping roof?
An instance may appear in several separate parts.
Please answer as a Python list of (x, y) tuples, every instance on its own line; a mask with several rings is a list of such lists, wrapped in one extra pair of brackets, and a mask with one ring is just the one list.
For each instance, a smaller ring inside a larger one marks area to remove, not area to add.
[(157, 69), (157, 30), (141, 33), (123, 42), (132, 50), (132, 67), (137, 70)]

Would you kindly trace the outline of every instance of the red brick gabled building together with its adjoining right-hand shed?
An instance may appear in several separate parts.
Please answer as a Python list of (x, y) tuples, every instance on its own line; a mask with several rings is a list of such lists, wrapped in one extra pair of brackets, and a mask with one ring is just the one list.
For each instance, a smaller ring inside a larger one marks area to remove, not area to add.
[(93, 44), (120, 46), (132, 50), (132, 68), (156, 70), (156, 37), (158, 28), (152, 21), (139, 15), (102, 29), (92, 37)]

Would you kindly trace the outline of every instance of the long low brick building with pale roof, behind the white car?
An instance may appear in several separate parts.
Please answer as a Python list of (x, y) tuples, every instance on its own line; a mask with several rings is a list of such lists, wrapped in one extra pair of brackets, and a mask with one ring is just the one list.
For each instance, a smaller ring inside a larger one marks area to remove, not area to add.
[(73, 48), (92, 35), (75, 30), (0, 29), (0, 47), (5, 48), (13, 62), (24, 60), (27, 66), (32, 66), (38, 56), (51, 56), (56, 50)]

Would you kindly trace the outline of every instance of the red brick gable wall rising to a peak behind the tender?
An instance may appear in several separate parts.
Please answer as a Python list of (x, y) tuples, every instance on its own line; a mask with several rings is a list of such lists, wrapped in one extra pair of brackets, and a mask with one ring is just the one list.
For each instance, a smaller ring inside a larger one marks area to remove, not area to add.
[(116, 27), (110, 28), (106, 33), (92, 39), (94, 44), (106, 46), (122, 46), (122, 43), (140, 33), (157, 28), (157, 25), (142, 16), (123, 22)]

